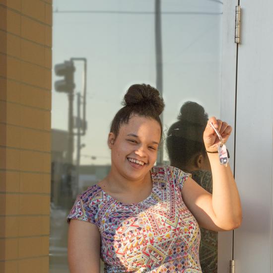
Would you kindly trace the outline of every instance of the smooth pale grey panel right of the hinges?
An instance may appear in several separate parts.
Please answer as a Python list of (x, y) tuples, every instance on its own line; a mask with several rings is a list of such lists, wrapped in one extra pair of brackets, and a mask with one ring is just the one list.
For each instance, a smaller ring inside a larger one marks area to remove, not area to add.
[(273, 1), (241, 0), (235, 179), (243, 205), (236, 273), (270, 273), (272, 259)]

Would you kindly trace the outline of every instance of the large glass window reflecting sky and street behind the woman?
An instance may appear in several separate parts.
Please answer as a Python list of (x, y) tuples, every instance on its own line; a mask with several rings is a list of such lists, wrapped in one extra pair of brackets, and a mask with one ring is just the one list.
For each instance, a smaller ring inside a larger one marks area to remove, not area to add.
[[(156, 86), (161, 82), (159, 89), (166, 105), (164, 140), (187, 101), (197, 102), (208, 116), (220, 114), (222, 3), (161, 0), (161, 12), (156, 17), (155, 2), (53, 2), (53, 66), (64, 64), (57, 68), (57, 73), (68, 71), (68, 83), (73, 77), (75, 88), (69, 85), (62, 89), (62, 82), (55, 88), (55, 82), (64, 76), (56, 75), (53, 69), (51, 273), (68, 272), (66, 215), (76, 195), (100, 181), (110, 170), (109, 127), (131, 84)], [(157, 32), (155, 22), (161, 26)], [(159, 56), (155, 54), (156, 47), (162, 49)], [(84, 62), (73, 58), (87, 60), (85, 98)], [(75, 71), (69, 72), (69, 66)], [(158, 79), (160, 71), (162, 76)], [(196, 140), (199, 136), (193, 132), (189, 134)], [(162, 163), (169, 164), (166, 145), (162, 154)], [(204, 259), (209, 261), (217, 249), (217, 241), (213, 240), (204, 246), (208, 257)], [(211, 266), (217, 267), (216, 263), (217, 258)]]

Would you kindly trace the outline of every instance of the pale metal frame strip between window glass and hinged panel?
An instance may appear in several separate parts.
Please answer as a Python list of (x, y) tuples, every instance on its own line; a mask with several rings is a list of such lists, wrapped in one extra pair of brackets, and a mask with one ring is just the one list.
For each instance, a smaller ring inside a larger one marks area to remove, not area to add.
[[(233, 132), (227, 142), (230, 167), (234, 173), (236, 136), (236, 67), (237, 45), (235, 35), (235, 6), (237, 0), (223, 1), (222, 16), (222, 68), (220, 87), (220, 119), (232, 126)], [(229, 273), (229, 261), (233, 259), (233, 231), (218, 232), (218, 273)]]

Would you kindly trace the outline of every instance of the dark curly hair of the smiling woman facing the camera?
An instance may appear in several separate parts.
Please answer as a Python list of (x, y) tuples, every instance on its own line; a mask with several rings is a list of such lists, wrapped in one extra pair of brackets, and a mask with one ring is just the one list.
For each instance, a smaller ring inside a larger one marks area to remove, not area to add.
[(162, 123), (159, 115), (163, 112), (165, 105), (156, 88), (144, 83), (133, 84), (125, 94), (122, 104), (124, 107), (115, 115), (110, 132), (118, 136), (121, 125), (128, 123), (130, 118), (136, 115), (156, 120), (160, 125), (162, 136)]

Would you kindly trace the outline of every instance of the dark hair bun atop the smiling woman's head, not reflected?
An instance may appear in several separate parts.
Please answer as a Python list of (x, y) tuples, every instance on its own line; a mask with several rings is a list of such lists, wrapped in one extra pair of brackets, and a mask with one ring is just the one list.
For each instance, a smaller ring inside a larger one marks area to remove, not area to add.
[(164, 109), (163, 99), (156, 88), (149, 84), (133, 84), (124, 96), (123, 105), (128, 107), (152, 108), (159, 116)]

